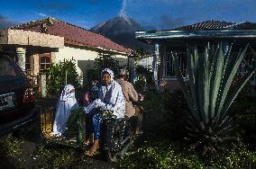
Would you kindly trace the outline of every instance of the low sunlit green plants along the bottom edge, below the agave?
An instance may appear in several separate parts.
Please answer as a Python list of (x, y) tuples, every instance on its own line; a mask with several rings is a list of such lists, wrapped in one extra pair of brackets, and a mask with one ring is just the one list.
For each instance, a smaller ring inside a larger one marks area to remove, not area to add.
[(248, 147), (226, 147), (214, 156), (187, 152), (166, 140), (144, 143), (119, 162), (120, 168), (255, 168), (256, 152)]

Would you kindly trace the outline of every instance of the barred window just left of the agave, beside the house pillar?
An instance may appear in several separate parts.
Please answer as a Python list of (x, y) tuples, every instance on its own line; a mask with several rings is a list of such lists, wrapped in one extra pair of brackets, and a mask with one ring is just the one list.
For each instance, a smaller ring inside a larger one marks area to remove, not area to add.
[[(179, 67), (181, 69), (182, 75), (184, 77), (187, 77), (187, 53), (186, 52), (178, 53), (178, 62), (179, 62)], [(168, 52), (165, 55), (164, 70), (165, 70), (165, 72), (164, 72), (165, 77), (176, 78), (175, 70), (174, 70), (173, 53)]]

